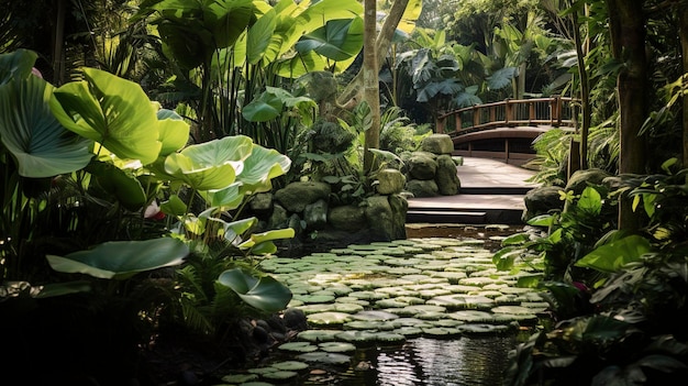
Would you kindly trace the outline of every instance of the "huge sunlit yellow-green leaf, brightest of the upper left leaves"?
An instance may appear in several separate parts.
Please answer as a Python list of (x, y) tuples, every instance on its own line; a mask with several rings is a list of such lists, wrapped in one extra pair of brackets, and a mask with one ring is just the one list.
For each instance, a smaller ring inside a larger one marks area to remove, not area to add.
[(141, 86), (93, 68), (85, 68), (84, 77), (53, 93), (57, 120), (120, 158), (154, 162), (162, 148), (157, 115)]

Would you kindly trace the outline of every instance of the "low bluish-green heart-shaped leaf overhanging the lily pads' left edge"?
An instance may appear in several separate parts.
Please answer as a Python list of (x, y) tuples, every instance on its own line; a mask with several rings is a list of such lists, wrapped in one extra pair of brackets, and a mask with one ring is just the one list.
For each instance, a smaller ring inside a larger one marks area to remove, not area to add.
[(291, 291), (270, 276), (256, 278), (240, 268), (228, 269), (218, 278), (219, 283), (230, 287), (247, 305), (264, 311), (284, 310), (291, 301)]

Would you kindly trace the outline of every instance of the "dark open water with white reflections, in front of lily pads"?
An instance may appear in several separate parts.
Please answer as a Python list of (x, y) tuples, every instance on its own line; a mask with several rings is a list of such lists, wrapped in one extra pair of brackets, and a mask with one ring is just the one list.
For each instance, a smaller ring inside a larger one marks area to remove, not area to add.
[[(502, 384), (514, 337), (435, 340), (418, 338), (401, 348), (359, 350), (354, 366), (330, 378), (345, 386), (493, 386)], [(365, 370), (366, 364), (370, 366)], [(313, 379), (311, 379), (313, 381)], [(309, 383), (309, 385), (323, 383)]]

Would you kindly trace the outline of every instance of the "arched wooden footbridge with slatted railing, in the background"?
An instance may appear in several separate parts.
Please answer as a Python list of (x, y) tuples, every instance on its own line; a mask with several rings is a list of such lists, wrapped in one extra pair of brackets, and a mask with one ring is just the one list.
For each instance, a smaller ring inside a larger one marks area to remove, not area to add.
[(578, 103), (566, 97), (507, 99), (440, 114), (437, 133), (454, 141), (454, 155), (521, 165), (535, 155), (532, 142), (553, 128), (574, 130)]

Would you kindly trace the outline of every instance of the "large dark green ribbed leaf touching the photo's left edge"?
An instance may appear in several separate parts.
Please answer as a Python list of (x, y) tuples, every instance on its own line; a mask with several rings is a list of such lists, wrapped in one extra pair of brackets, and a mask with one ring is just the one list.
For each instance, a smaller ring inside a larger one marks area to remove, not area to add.
[(53, 89), (35, 76), (0, 86), (0, 139), (16, 158), (21, 176), (71, 173), (93, 155), (91, 142), (65, 130), (51, 112)]

